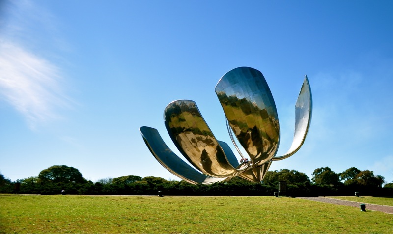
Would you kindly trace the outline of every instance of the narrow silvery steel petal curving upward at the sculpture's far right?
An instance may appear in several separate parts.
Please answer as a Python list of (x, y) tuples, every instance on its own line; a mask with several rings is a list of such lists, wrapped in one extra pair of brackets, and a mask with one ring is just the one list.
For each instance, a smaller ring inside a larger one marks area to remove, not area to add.
[(312, 95), (309, 79), (305, 76), (302, 88), (300, 89), (298, 100), (295, 105), (295, 133), (292, 145), (288, 152), (279, 157), (273, 157), (273, 161), (282, 160), (292, 156), (303, 145), (309, 131), (312, 116)]

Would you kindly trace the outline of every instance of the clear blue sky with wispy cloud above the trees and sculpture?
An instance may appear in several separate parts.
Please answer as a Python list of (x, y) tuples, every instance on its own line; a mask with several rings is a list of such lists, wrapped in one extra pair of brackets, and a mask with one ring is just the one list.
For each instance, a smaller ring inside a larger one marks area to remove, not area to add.
[[(97, 181), (178, 180), (145, 146), (163, 111), (194, 100), (230, 143), (214, 87), (229, 70), (260, 70), (290, 147), (304, 75), (308, 138), (270, 170), (372, 170), (393, 181), (393, 2), (1, 1), (0, 172), (15, 181), (53, 165)], [(239, 157), (240, 159), (240, 157)]]

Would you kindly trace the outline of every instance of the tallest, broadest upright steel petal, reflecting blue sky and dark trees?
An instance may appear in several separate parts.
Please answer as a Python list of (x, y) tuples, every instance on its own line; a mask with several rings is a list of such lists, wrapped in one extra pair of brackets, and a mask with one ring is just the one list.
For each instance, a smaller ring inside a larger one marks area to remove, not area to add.
[(239, 143), (253, 166), (268, 162), (277, 153), (280, 139), (276, 104), (262, 73), (238, 67), (216, 85), (217, 97)]

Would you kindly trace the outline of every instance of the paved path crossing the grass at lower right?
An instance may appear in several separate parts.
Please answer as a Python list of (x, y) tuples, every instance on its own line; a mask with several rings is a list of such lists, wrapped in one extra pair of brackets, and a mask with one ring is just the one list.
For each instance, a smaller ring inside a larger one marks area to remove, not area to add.
[[(317, 201), (317, 202), (358, 207), (359, 209), (360, 209), (360, 204), (362, 204), (360, 202), (346, 201), (346, 200), (341, 200), (341, 199), (337, 199), (337, 198), (325, 198), (325, 197), (298, 197), (298, 198), (308, 199), (308, 200)], [(365, 204), (365, 210), (369, 209), (369, 210), (374, 210), (374, 211), (381, 211), (381, 212), (388, 213), (388, 214), (393, 214), (393, 206), (377, 205), (377, 204), (369, 204), (369, 203), (364, 203), (364, 204)]]

